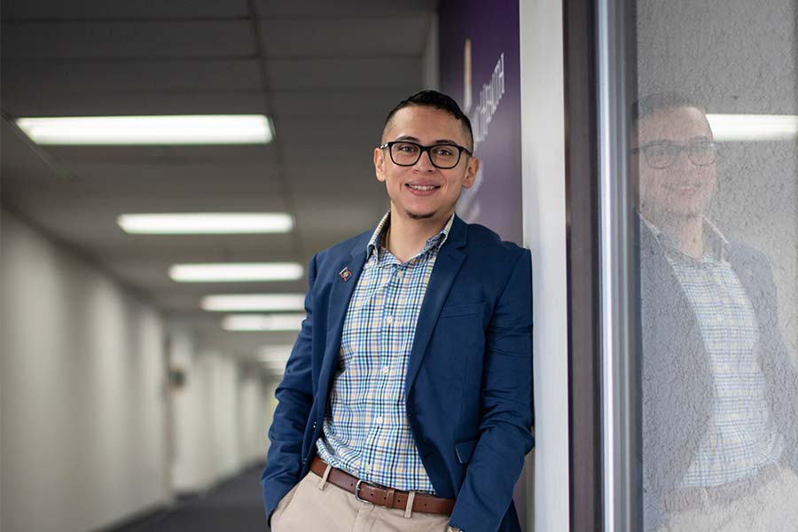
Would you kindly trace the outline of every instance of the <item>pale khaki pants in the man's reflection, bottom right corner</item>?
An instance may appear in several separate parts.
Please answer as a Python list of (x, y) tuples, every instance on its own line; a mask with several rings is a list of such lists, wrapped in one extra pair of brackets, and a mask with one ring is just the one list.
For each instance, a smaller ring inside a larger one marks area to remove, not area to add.
[(724, 505), (670, 515), (661, 532), (798, 532), (798, 477), (782, 469), (753, 493)]

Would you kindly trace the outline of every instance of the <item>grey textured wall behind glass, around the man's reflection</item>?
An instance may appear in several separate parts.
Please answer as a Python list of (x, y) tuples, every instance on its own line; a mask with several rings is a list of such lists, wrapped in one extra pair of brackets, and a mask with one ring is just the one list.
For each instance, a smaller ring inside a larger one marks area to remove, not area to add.
[[(798, 115), (793, 0), (638, 1), (638, 95), (678, 90), (707, 113)], [(771, 258), (798, 352), (798, 139), (719, 145), (708, 215)]]

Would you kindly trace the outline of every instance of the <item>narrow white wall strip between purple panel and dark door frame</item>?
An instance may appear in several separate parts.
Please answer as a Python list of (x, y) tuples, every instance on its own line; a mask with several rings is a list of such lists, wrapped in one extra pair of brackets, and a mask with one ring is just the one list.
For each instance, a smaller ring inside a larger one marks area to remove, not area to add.
[(536, 450), (528, 458), (534, 467), (527, 467), (535, 490), (528, 529), (540, 532), (569, 527), (562, 42), (562, 4), (520, 0), (524, 244), (532, 250), (535, 298)]

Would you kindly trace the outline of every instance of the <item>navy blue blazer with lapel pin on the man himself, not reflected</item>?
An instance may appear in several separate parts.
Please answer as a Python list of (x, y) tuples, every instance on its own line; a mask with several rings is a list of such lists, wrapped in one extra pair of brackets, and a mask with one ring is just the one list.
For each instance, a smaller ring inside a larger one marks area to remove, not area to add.
[[(364, 232), (310, 262), (307, 317), (269, 430), (267, 515), (309, 471), (371, 236)], [(348, 280), (339, 275), (344, 268)], [(435, 493), (457, 499), (450, 523), (468, 532), (518, 532), (512, 488), (534, 442), (527, 249), (455, 216), (429, 279), (405, 379), (407, 418)]]

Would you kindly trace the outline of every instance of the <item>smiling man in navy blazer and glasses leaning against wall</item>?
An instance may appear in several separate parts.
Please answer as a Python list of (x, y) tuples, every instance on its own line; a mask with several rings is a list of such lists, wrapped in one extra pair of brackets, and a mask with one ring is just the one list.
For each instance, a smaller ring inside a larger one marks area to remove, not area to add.
[(426, 90), (374, 150), (390, 211), (317, 254), (262, 484), (274, 532), (520, 530), (531, 449), (528, 250), (454, 215), (479, 168)]

